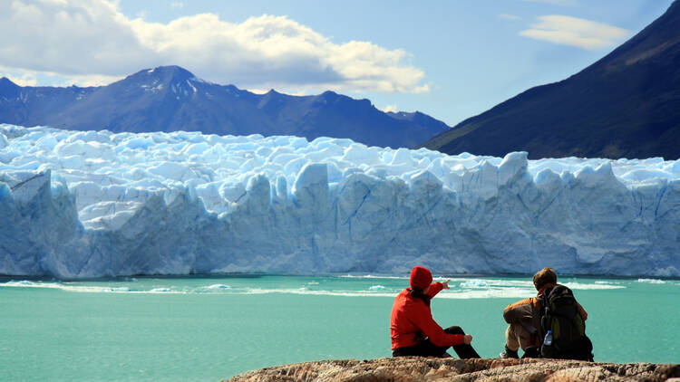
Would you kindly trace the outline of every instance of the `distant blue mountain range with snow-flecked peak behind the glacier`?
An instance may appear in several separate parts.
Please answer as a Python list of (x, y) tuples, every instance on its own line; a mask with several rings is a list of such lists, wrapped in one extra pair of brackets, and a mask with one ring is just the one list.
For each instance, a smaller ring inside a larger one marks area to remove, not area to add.
[(351, 138), (412, 148), (449, 129), (423, 113), (384, 113), (370, 100), (325, 91), (255, 94), (196, 78), (178, 66), (142, 70), (107, 86), (21, 87), (0, 79), (0, 123), (113, 132), (195, 130), (207, 134)]

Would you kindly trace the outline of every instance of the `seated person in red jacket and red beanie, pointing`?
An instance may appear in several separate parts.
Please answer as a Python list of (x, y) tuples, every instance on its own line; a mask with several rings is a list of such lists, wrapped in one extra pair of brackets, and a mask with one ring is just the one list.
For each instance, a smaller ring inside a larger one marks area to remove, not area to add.
[(393, 357), (451, 357), (446, 352), (453, 347), (460, 358), (480, 358), (472, 348), (472, 336), (460, 327), (442, 329), (433, 319), (430, 300), (442, 289), (449, 289), (449, 281), (432, 283), (432, 272), (414, 267), (411, 288), (404, 289), (394, 299), (390, 317), (390, 337)]

